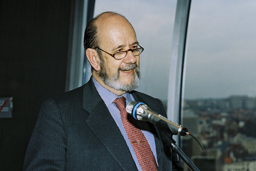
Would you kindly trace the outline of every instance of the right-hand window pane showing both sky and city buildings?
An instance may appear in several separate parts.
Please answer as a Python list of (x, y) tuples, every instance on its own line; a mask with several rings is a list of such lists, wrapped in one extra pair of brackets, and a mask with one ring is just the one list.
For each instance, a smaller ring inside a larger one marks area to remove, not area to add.
[(255, 8), (191, 2), (182, 125), (204, 151), (189, 136), (182, 149), (201, 171), (256, 170)]

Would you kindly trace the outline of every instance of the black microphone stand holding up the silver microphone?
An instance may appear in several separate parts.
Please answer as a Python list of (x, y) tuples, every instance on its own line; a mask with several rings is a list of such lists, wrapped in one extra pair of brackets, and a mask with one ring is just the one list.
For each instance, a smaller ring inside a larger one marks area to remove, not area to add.
[[(160, 121), (161, 122), (161, 121)], [(165, 126), (161, 126), (165, 125)], [(167, 126), (167, 127), (166, 127)], [(159, 124), (157, 128), (160, 129), (159, 134), (163, 138), (163, 141), (166, 142), (167, 145), (169, 145), (173, 151), (175, 151), (181, 158), (182, 160), (186, 163), (186, 165), (190, 168), (192, 171), (200, 171), (194, 163), (186, 156), (186, 154), (175, 144), (176, 141), (172, 138), (174, 135), (170, 129), (165, 129), (168, 128), (168, 125), (164, 122)]]

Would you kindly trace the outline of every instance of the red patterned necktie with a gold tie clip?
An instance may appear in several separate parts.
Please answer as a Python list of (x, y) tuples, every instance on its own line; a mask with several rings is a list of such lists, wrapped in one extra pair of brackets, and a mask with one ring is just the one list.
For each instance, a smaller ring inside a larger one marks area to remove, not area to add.
[(134, 149), (136, 157), (140, 163), (143, 171), (157, 171), (157, 163), (151, 151), (149, 143), (140, 129), (138, 124), (131, 115), (127, 115), (125, 98), (117, 98), (113, 102), (120, 111), (122, 124), (124, 130), (129, 138), (130, 143)]

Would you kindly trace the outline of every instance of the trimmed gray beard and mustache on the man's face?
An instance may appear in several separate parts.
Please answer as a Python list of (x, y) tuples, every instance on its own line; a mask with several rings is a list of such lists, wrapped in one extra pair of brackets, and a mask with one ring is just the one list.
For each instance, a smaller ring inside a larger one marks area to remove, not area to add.
[[(115, 89), (115, 90), (121, 90), (124, 92), (131, 92), (137, 87), (139, 87), (140, 84), (140, 68), (137, 66), (136, 63), (127, 65), (122, 68), (118, 68), (116, 73), (113, 73), (111, 75), (108, 75), (106, 73), (106, 68), (105, 68), (105, 63), (104, 61), (100, 62), (100, 71), (99, 71), (99, 76), (102, 79), (102, 81), (108, 85), (109, 87)], [(134, 69), (135, 72), (135, 78), (132, 82), (128, 83), (122, 83), (119, 81), (119, 70), (130, 70)]]

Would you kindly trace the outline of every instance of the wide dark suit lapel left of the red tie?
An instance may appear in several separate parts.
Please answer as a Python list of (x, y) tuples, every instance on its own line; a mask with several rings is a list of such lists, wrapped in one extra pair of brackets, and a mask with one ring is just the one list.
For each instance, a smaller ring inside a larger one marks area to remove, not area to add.
[(92, 79), (84, 87), (83, 108), (90, 113), (86, 119), (87, 125), (117, 163), (123, 170), (136, 170), (131, 152), (104, 101), (99, 96)]

